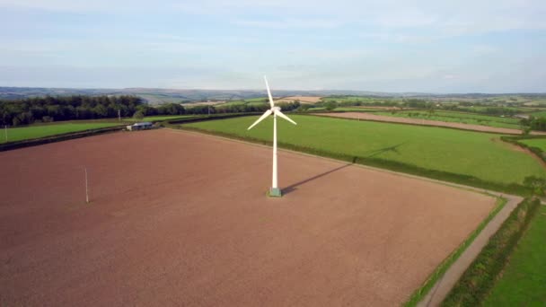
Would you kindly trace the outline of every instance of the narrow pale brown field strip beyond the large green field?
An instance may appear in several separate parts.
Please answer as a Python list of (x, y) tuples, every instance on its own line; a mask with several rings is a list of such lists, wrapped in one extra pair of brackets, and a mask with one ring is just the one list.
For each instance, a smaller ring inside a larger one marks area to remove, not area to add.
[[(461, 123), (453, 123), (453, 122), (447, 122), (447, 121), (418, 119), (418, 118), (397, 118), (393, 116), (374, 115), (374, 114), (364, 113), (364, 112), (317, 113), (316, 115), (330, 116), (334, 118), (360, 118), (364, 120), (376, 120), (376, 121), (386, 121), (391, 123), (404, 123), (404, 124), (415, 124), (415, 125), (424, 125), (424, 126), (454, 127), (458, 129), (464, 129), (464, 130), (494, 132), (494, 133), (502, 133), (507, 135), (522, 134), (522, 131), (519, 129), (461, 124)], [(532, 131), (531, 134), (546, 135), (546, 133), (540, 132), (540, 131)]]

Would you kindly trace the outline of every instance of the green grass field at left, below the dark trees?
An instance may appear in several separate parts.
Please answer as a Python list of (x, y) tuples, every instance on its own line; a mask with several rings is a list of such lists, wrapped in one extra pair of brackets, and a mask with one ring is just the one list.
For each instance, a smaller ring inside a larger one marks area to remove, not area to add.
[[(8, 142), (29, 140), (44, 136), (55, 136), (64, 133), (78, 132), (101, 127), (119, 126), (119, 123), (64, 123), (7, 129)], [(0, 134), (0, 143), (5, 143), (4, 129)]]

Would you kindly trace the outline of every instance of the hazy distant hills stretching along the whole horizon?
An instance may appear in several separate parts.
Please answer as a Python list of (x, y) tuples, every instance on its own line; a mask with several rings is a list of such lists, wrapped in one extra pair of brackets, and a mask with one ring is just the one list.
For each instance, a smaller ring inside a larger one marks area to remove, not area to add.
[[(17, 100), (29, 97), (41, 96), (65, 96), (65, 95), (135, 95), (143, 98), (149, 104), (162, 104), (168, 102), (198, 102), (198, 101), (240, 101), (252, 98), (265, 97), (266, 92), (256, 90), (174, 90), (174, 89), (74, 89), (74, 88), (43, 88), (43, 87), (0, 87), (0, 99)], [(462, 94), (435, 94), (426, 92), (368, 92), (368, 91), (289, 91), (276, 90), (276, 97), (290, 96), (374, 96), (374, 97), (411, 97), (427, 99), (485, 99), (499, 96), (520, 95), (527, 97), (546, 96), (545, 94), (490, 94), (490, 93), (462, 93)]]

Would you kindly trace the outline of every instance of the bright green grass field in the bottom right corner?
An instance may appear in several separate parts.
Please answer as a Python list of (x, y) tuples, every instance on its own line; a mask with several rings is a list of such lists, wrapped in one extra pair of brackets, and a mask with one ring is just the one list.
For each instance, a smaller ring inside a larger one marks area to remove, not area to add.
[(519, 241), (485, 306), (546, 306), (546, 206)]

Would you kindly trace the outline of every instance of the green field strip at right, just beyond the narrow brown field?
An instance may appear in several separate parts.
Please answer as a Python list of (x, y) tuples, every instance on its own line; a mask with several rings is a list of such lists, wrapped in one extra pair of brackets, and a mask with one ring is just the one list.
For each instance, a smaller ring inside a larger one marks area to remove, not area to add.
[(507, 127), (513, 129), (521, 128), (518, 118), (501, 118), (480, 114), (450, 112), (450, 111), (435, 111), (428, 113), (425, 110), (414, 111), (396, 111), (396, 112), (377, 112), (376, 114), (401, 117), (401, 118), (426, 118), (430, 120), (439, 120), (446, 122), (456, 122), (471, 125), (483, 125), (489, 127)]

